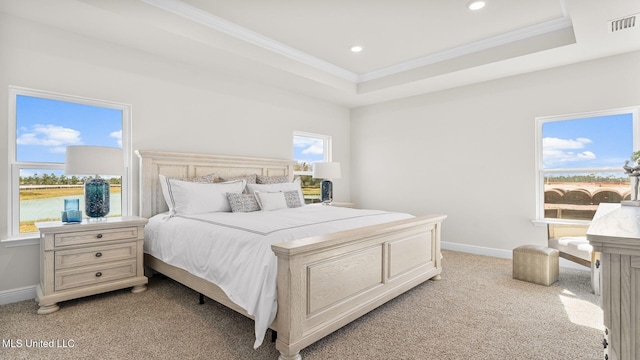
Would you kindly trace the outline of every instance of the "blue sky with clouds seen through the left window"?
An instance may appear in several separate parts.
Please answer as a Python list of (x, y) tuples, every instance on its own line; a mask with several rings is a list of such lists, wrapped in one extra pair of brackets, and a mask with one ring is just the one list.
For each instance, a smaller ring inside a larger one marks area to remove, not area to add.
[(122, 147), (122, 111), (18, 95), (16, 157), (19, 162), (65, 162), (65, 147)]

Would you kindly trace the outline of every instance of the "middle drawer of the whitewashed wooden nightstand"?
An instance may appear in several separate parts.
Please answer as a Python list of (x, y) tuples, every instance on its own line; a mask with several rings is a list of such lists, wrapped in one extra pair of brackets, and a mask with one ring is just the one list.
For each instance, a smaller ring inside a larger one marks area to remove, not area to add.
[(55, 252), (56, 270), (136, 258), (135, 242)]

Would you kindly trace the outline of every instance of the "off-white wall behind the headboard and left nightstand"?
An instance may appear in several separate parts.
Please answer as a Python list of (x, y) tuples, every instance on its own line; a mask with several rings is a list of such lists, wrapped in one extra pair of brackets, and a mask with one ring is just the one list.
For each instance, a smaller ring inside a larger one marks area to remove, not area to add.
[[(132, 149), (292, 158), (294, 130), (333, 137), (343, 166), (336, 200), (349, 200), (349, 110), (223, 73), (0, 14), (0, 139), (6, 144), (8, 86), (131, 104)], [(133, 209), (137, 213), (137, 159)], [(0, 146), (0, 189), (8, 189)], [(8, 190), (0, 191), (0, 240)], [(0, 245), (0, 294), (38, 282), (38, 246)]]

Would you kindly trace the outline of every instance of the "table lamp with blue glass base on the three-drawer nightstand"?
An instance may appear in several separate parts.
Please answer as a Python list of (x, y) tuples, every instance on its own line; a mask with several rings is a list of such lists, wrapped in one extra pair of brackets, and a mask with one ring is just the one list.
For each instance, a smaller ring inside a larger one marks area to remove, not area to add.
[(122, 176), (122, 149), (106, 146), (67, 146), (65, 175), (93, 175), (84, 183), (85, 213), (90, 218), (109, 214), (109, 181), (99, 175)]

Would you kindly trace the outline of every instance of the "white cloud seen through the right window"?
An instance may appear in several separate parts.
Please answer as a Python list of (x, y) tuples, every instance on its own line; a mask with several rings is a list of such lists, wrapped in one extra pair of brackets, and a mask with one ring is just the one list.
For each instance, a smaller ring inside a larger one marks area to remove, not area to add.
[[(587, 138), (577, 139), (542, 139), (542, 154), (545, 166), (553, 166), (576, 161), (595, 160), (596, 154), (592, 151), (583, 150), (591, 140)], [(578, 150), (578, 151), (575, 151)]]

